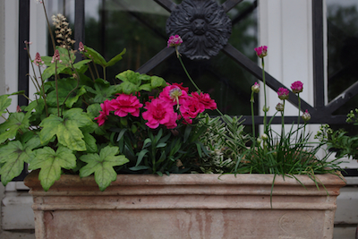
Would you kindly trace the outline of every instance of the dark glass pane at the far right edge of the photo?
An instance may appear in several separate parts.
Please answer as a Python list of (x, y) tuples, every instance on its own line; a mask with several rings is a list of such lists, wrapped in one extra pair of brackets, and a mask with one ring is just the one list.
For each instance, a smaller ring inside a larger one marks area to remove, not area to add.
[[(327, 0), (328, 100), (358, 81), (358, 2)], [(335, 114), (346, 115), (357, 107), (357, 97)]]

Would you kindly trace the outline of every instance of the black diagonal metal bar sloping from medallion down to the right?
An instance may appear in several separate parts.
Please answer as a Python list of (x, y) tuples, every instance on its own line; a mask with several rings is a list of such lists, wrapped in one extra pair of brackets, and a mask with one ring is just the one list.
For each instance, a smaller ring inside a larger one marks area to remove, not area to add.
[[(239, 50), (233, 47), (231, 44), (227, 44), (226, 47), (222, 49), (222, 51), (232, 57), (237, 64), (243, 66), (243, 68), (254, 75), (256, 78), (262, 81), (262, 69), (259, 67), (258, 64), (253, 63), (246, 55), (243, 55)], [(286, 88), (281, 82), (277, 81), (274, 77), (270, 74), (265, 73), (266, 83), (269, 88), (272, 90), (278, 90), (280, 87)], [(297, 96), (290, 90), (290, 95), (288, 101), (294, 104), (294, 106), (298, 107), (298, 98)], [(301, 108), (308, 109), (313, 115), (315, 113), (315, 109), (311, 107), (306, 101), (301, 99)]]

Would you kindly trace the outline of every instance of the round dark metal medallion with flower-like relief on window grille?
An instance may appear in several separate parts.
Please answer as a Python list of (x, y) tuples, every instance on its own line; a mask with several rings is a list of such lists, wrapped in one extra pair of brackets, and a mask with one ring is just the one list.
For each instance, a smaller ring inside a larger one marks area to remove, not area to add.
[(231, 20), (214, 0), (183, 0), (166, 21), (166, 33), (179, 35), (179, 52), (190, 59), (217, 55), (231, 35)]

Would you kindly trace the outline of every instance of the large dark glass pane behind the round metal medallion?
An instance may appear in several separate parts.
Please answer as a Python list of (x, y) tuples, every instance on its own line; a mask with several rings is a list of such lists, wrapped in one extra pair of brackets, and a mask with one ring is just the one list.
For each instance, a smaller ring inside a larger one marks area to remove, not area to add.
[[(173, 2), (180, 4), (182, 1)], [(217, 1), (218, 4), (224, 2)], [(257, 1), (245, 0), (227, 13), (233, 21), (229, 43), (254, 62), (257, 61), (253, 50), (257, 47), (256, 6)], [(52, 1), (50, 9), (52, 14), (69, 13), (67, 17), (73, 24), (74, 0)], [(115, 75), (124, 70), (137, 70), (166, 47), (166, 19), (169, 15), (151, 0), (85, 1), (85, 45), (95, 48), (107, 61), (126, 48), (124, 59), (107, 69), (108, 81), (115, 81)], [(203, 61), (191, 61), (183, 56), (183, 62), (200, 89), (210, 93), (223, 113), (251, 115), (251, 85), (256, 80), (231, 58), (220, 52)], [(195, 90), (175, 55), (149, 74), (162, 76), (169, 82), (184, 82), (190, 90)]]

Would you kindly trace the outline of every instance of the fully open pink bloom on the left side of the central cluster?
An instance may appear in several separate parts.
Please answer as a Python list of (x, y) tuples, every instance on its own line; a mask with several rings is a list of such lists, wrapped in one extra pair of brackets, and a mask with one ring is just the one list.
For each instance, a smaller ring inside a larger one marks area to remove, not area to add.
[(124, 117), (128, 114), (138, 117), (140, 115), (140, 107), (143, 104), (140, 100), (132, 95), (119, 94), (117, 98), (112, 99), (109, 103), (111, 110), (115, 111), (115, 115)]

